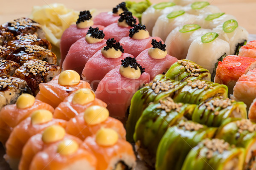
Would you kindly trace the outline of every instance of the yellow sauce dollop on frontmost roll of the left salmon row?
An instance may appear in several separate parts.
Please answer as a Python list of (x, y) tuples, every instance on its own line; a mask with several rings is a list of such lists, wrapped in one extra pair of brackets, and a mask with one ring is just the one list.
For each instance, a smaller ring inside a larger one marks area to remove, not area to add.
[(61, 155), (67, 156), (75, 153), (78, 150), (78, 147), (79, 145), (77, 142), (70, 139), (66, 139), (58, 144), (57, 152), (60, 153)]

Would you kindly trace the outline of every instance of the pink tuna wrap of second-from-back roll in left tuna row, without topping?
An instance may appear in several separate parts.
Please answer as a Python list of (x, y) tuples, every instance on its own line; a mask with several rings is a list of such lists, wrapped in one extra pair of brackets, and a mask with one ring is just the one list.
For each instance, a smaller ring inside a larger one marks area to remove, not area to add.
[(80, 75), (88, 59), (92, 57), (97, 51), (106, 45), (107, 40), (102, 40), (94, 44), (89, 44), (85, 38), (77, 40), (71, 45), (70, 50), (64, 59), (62, 68), (64, 70), (74, 70)]

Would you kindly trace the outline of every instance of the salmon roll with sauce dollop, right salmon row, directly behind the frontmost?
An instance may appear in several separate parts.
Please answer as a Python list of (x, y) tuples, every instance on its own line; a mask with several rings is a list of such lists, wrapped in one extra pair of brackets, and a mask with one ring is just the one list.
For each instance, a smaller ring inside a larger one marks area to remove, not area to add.
[(108, 109), (99, 105), (90, 106), (84, 112), (70, 119), (66, 131), (84, 140), (88, 136), (95, 135), (103, 127), (115, 130), (119, 138), (125, 140), (126, 131), (122, 122), (109, 117)]

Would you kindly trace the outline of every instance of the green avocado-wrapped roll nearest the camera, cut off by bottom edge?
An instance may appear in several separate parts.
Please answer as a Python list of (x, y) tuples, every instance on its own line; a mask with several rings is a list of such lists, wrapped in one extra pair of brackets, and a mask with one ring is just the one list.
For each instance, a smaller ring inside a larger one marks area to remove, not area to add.
[(190, 150), (181, 170), (244, 170), (244, 149), (221, 139), (205, 139)]

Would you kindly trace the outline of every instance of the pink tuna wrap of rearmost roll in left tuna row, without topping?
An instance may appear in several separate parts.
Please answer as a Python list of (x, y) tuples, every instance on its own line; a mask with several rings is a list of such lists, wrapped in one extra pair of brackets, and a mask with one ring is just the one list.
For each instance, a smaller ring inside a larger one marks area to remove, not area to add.
[[(96, 25), (93, 25), (92, 27), (93, 28), (98, 27), (99, 30), (103, 30), (105, 28), (104, 26), (96, 26)], [(67, 52), (70, 49), (70, 46), (80, 38), (85, 37), (88, 30), (89, 30), (89, 27), (77, 28), (77, 26), (73, 24), (63, 32), (61, 36), (61, 43), (60, 43), (60, 51), (61, 51), (60, 66), (62, 66), (62, 63), (65, 57), (67, 56)]]

